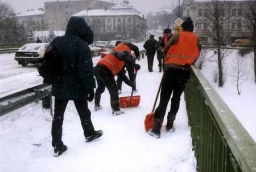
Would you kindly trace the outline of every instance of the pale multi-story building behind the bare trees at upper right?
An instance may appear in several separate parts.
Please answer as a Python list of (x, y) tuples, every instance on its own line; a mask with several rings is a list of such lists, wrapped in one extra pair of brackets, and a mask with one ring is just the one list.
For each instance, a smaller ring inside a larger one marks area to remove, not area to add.
[[(248, 3), (246, 1), (219, 1), (218, 3), (227, 9), (225, 12), (227, 20), (221, 25), (221, 29), (229, 35), (225, 41), (230, 44), (238, 38), (251, 37), (251, 29), (244, 18)], [(194, 32), (200, 36), (203, 42), (210, 42), (211, 40), (208, 32), (209, 22), (205, 15), (212, 7), (212, 1), (183, 0), (182, 3), (183, 18), (191, 16), (195, 26)]]

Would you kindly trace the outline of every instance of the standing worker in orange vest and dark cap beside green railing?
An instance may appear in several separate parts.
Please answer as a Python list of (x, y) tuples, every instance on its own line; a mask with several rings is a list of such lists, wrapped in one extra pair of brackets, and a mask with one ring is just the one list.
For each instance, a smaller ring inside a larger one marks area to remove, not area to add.
[(185, 19), (181, 27), (183, 31), (172, 36), (163, 49), (166, 57), (160, 102), (155, 110), (154, 127), (150, 132), (150, 135), (156, 138), (160, 138), (160, 130), (171, 94), (171, 109), (167, 115), (166, 130), (174, 131), (174, 120), (179, 110), (180, 96), (191, 72), (190, 65), (195, 63), (201, 50), (199, 37), (193, 33), (194, 27), (191, 18)]

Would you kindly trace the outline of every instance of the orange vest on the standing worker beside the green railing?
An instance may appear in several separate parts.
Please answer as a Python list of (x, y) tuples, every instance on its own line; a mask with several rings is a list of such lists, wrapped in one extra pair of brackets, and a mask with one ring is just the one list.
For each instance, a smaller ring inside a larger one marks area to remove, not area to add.
[(164, 58), (164, 65), (192, 65), (199, 57), (197, 36), (192, 32), (180, 32), (179, 41), (171, 45)]

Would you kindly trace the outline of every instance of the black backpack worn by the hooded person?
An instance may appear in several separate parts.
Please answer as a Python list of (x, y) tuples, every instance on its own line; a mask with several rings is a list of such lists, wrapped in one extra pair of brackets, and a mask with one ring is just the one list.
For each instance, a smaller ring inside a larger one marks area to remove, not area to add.
[(53, 45), (49, 45), (44, 56), (39, 61), (38, 72), (44, 78), (44, 83), (55, 84), (63, 80), (63, 56)]

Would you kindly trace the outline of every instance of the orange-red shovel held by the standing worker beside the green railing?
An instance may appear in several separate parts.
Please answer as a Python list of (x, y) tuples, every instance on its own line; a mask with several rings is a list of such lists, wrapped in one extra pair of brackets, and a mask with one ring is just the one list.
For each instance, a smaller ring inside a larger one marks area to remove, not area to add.
[(162, 86), (162, 80), (163, 80), (163, 76), (162, 76), (161, 82), (160, 82), (159, 87), (158, 87), (158, 93), (156, 93), (155, 102), (154, 102), (152, 111), (151, 111), (151, 113), (146, 115), (146, 118), (144, 120), (144, 127), (145, 127), (146, 132), (151, 130), (154, 126), (155, 105), (156, 105), (156, 101), (158, 101), (158, 96), (159, 96), (160, 89), (161, 89), (161, 86)]

